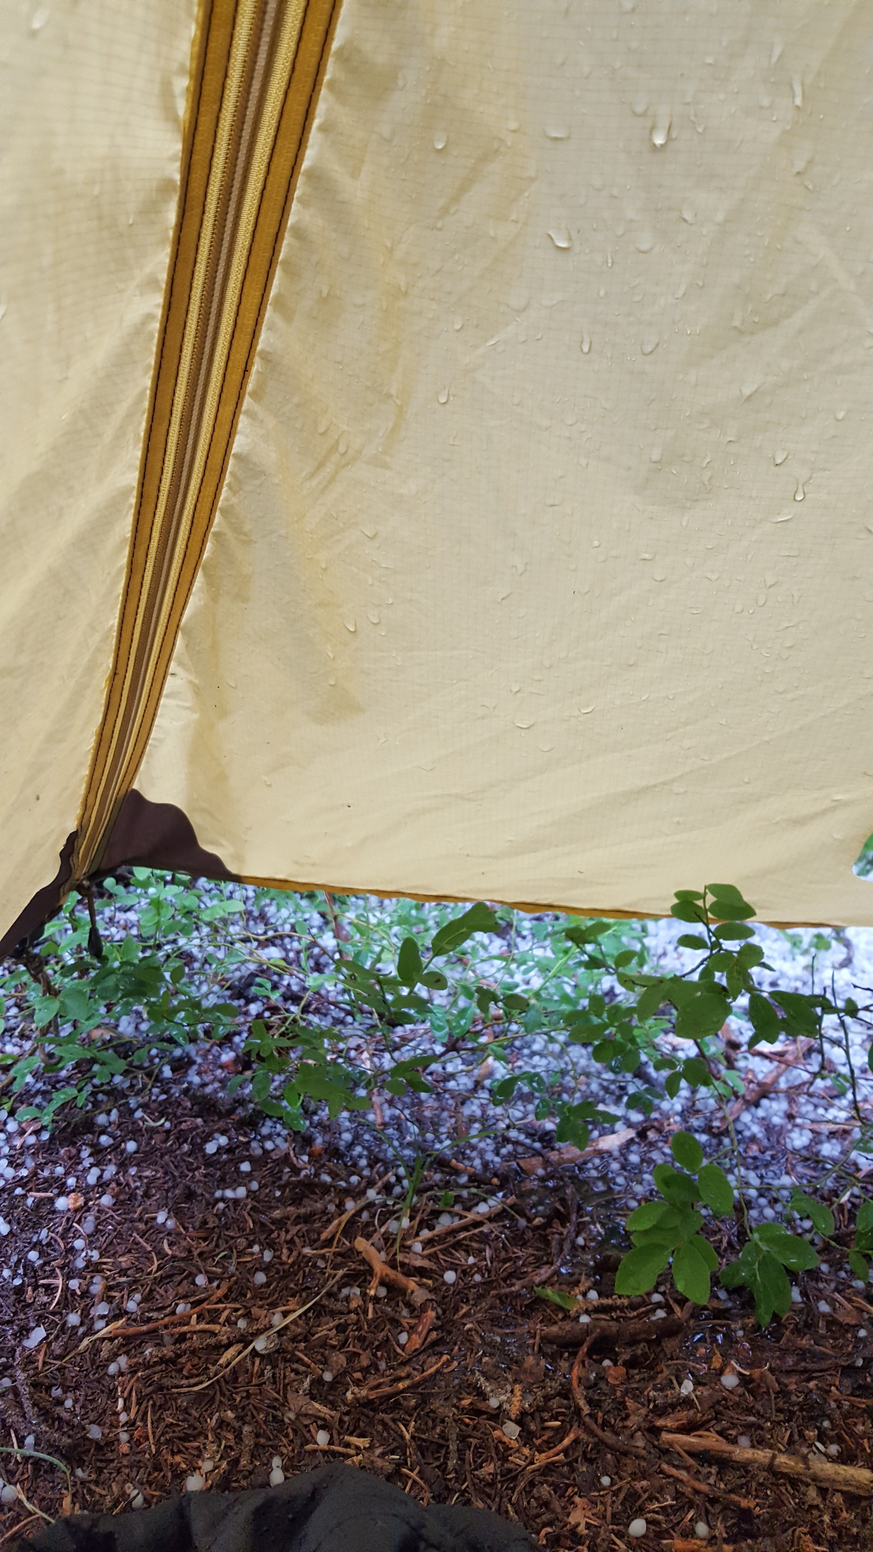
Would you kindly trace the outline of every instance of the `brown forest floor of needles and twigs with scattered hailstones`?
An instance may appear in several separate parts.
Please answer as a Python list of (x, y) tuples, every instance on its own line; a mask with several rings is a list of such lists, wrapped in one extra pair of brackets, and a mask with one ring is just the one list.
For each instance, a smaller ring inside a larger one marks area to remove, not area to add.
[(261, 1119), (179, 1091), (113, 1111), (110, 1195), (82, 1178), (93, 1117), (14, 1139), (33, 1170), (3, 1238), (22, 1270), (0, 1282), (0, 1476), (19, 1493), (0, 1546), (329, 1460), (548, 1549), (873, 1546), (873, 1305), (851, 1284), (800, 1276), (766, 1332), (744, 1290), (617, 1299), (603, 1153), (426, 1172), (404, 1228), (385, 1166), (350, 1173), (329, 1135), (306, 1164), (264, 1152)]

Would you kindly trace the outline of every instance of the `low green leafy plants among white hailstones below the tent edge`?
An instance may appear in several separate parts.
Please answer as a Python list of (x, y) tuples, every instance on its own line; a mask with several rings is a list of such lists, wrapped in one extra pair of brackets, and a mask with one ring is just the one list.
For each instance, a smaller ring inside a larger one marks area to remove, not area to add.
[[(244, 1071), (230, 1080), (230, 1093), (245, 1091), (294, 1130), (308, 1125), (314, 1103), (325, 1103), (332, 1117), (367, 1111), (376, 1093), (401, 1100), (430, 1094), (446, 1060), (469, 1072), (491, 1058), (497, 1125), (503, 1107), (523, 1096), (539, 1121), (555, 1124), (559, 1144), (584, 1150), (592, 1127), (620, 1117), (584, 1097), (583, 1077), (569, 1093), (578, 1048), (617, 1080), (632, 1079), (628, 1111), (648, 1116), (685, 1086), (707, 1090), (727, 1122), (727, 1107), (744, 1094), (746, 1080), (725, 1034), (750, 1027), (749, 1051), (783, 1038), (809, 1041), (819, 1060), (812, 1080), (837, 1086), (862, 1136), (870, 1136), (847, 1020), (865, 1021), (873, 1009), (854, 998), (839, 1004), (814, 989), (758, 987), (755, 972), (772, 967), (753, 941), (755, 909), (733, 885), (676, 891), (671, 914), (688, 928), (679, 944), (694, 962), (673, 975), (651, 973), (638, 923), (547, 916), (525, 919), (522, 937), (517, 913), (485, 903), (460, 911), (399, 900), (373, 909), (315, 892), (272, 900), (281, 900), (287, 930), (267, 936), (292, 941), (289, 961), (275, 958), (277, 950), (267, 956), (247, 931), (233, 885), (203, 892), (186, 880), (134, 869), (129, 883), (107, 878), (92, 902), (70, 896), (39, 953), (11, 961), (0, 979), (6, 998), (25, 1003), (33, 1027), (23, 1054), (0, 1055), (0, 1105), (16, 1103), (31, 1074), (51, 1074), (57, 1083), (50, 1100), (17, 1110), (22, 1119), (51, 1125), (59, 1110), (87, 1105), (93, 1090), (113, 1077), (154, 1071), (193, 1040), (222, 1040), (244, 1027)], [(121, 939), (99, 930), (110, 906), (135, 917)], [(826, 945), (820, 934), (812, 941), (816, 951)], [(197, 948), (200, 967), (196, 986), (190, 947)], [(228, 999), (242, 968), (255, 970), (253, 995), (267, 1004), (252, 1021)], [(303, 978), (304, 996), (290, 1010), (273, 1001), (275, 975)], [(0, 998), (0, 1029), (2, 1013)], [(353, 1055), (340, 1015), (351, 1015), (356, 1032), (371, 1037), (377, 1060)], [(135, 1035), (118, 1031), (123, 1020)], [(551, 1068), (527, 1057), (531, 1038), (548, 1041)], [(828, 1071), (828, 1044), (843, 1052), (848, 1077)], [(873, 1066), (873, 1046), (868, 1062)], [(688, 1131), (673, 1136), (671, 1153), (673, 1164), (654, 1170), (657, 1200), (628, 1220), (632, 1249), (621, 1260), (617, 1291), (645, 1293), (670, 1268), (683, 1297), (707, 1302), (719, 1266), (707, 1234), (715, 1220), (735, 1215), (744, 1240), (738, 1259), (724, 1266), (722, 1284), (747, 1287), (761, 1322), (783, 1315), (789, 1273), (817, 1265), (809, 1238), (781, 1223), (749, 1225), (736, 1148), (736, 1189)], [(845, 1252), (853, 1274), (867, 1280), (873, 1203), (861, 1203), (847, 1245), (834, 1211), (820, 1200), (825, 1187), (826, 1181), (794, 1189), (786, 1218), (811, 1223), (809, 1232), (828, 1243), (830, 1254)], [(537, 1293), (575, 1308), (565, 1294)]]

